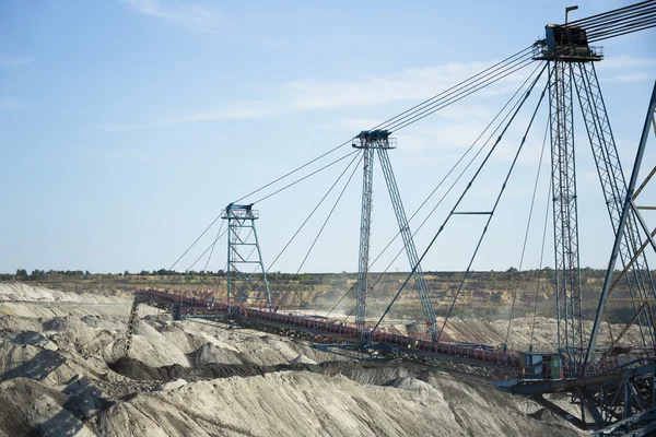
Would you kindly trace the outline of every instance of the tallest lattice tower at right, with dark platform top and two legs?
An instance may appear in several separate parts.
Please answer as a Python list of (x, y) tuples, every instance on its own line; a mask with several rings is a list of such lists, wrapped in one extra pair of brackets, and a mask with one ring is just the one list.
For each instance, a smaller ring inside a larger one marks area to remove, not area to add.
[[(576, 166), (574, 147), (574, 94), (581, 105), (586, 132), (595, 157), (599, 181), (606, 200), (613, 233), (620, 227), (621, 212), (626, 197), (626, 181), (622, 173), (617, 145), (610, 128), (606, 105), (599, 87), (594, 62), (604, 56), (600, 48), (587, 44), (585, 29), (548, 25), (547, 38), (535, 46), (535, 59), (547, 60), (550, 75), (549, 121), (551, 131), (552, 194), (555, 252), (555, 286), (559, 351), (566, 357), (566, 366), (583, 373), (588, 356), (584, 327), (583, 296), (579, 276), (578, 223), (576, 197)], [(640, 217), (631, 210), (626, 217), (626, 233), (619, 247), (624, 269), (629, 299), (635, 310), (645, 346), (654, 344), (654, 323), (640, 299), (656, 297), (656, 287), (649, 274), (645, 255), (640, 250), (644, 237), (639, 232)], [(598, 328), (597, 328), (598, 329)], [(621, 335), (613, 340), (613, 345)]]

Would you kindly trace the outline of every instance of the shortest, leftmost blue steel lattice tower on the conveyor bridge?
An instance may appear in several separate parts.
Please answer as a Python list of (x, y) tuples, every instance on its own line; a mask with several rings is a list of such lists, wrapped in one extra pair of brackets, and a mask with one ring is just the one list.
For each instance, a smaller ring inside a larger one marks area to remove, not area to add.
[[(259, 212), (253, 204), (231, 203), (221, 218), (227, 220), (227, 304), (232, 305), (233, 298), (239, 304), (248, 299), (265, 300), (271, 311), (271, 293), (255, 228)], [(258, 293), (260, 284), (263, 295)]]

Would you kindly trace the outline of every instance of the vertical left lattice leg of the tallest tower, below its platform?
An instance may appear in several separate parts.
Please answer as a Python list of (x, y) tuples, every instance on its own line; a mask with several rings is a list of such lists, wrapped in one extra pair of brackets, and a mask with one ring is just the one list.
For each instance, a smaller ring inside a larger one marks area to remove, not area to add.
[(583, 361), (583, 312), (578, 255), (578, 214), (572, 105), (571, 63), (549, 63), (549, 121), (555, 253), (555, 287), (559, 351), (565, 365), (576, 368)]

